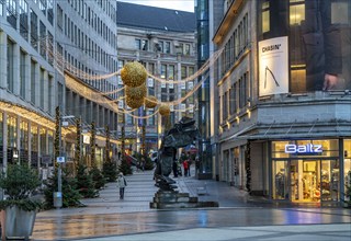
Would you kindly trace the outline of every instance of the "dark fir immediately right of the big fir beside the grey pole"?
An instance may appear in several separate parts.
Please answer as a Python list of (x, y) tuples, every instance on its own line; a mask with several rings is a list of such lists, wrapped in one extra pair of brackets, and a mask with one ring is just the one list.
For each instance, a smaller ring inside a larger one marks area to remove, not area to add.
[(77, 167), (77, 190), (79, 194), (86, 198), (92, 198), (99, 195), (92, 181), (92, 176), (88, 173), (87, 167), (82, 163)]

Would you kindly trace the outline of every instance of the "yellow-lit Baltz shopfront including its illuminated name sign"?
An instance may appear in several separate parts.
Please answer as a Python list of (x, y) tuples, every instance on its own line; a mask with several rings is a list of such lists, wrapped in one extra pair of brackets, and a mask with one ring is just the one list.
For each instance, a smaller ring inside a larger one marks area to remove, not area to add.
[[(271, 194), (275, 200), (340, 202), (350, 169), (351, 140), (272, 141)], [(343, 149), (342, 149), (343, 147)]]

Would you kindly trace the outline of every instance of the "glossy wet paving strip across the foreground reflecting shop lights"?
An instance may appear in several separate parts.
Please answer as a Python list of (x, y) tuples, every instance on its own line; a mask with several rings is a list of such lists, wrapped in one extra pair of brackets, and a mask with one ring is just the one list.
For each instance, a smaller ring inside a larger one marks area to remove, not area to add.
[(38, 217), (33, 240), (65, 240), (189, 228), (350, 223), (349, 209), (224, 208)]

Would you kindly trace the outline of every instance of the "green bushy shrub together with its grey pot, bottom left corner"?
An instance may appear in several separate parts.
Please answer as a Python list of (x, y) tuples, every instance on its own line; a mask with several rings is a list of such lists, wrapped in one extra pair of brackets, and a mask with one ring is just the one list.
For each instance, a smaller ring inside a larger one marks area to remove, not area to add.
[(36, 211), (42, 203), (33, 199), (41, 185), (38, 174), (29, 164), (9, 164), (0, 175), (5, 199), (0, 200), (2, 239), (32, 236)]

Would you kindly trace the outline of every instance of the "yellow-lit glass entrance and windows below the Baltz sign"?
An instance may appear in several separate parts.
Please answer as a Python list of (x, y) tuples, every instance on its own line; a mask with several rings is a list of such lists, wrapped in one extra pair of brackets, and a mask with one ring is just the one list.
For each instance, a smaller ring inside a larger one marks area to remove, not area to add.
[(275, 161), (274, 199), (291, 202), (338, 202), (340, 198), (338, 160)]

